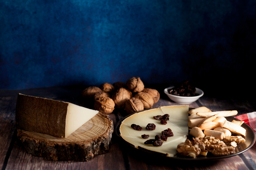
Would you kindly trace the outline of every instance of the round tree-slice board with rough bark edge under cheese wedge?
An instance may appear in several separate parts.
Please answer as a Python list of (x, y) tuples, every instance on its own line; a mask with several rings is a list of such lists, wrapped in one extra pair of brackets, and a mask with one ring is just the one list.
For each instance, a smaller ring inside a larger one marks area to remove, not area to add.
[(26, 151), (47, 160), (87, 161), (109, 150), (113, 121), (98, 113), (67, 138), (17, 129)]

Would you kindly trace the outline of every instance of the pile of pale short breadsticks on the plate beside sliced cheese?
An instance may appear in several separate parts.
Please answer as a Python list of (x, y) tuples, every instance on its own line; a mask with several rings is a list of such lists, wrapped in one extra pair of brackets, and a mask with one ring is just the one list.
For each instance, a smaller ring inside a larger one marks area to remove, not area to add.
[(237, 111), (212, 112), (207, 107), (198, 107), (188, 111), (189, 134), (193, 137), (213, 136), (223, 140), (231, 136), (231, 132), (246, 135), (246, 130), (241, 127), (244, 121), (227, 121), (225, 117), (237, 115)]

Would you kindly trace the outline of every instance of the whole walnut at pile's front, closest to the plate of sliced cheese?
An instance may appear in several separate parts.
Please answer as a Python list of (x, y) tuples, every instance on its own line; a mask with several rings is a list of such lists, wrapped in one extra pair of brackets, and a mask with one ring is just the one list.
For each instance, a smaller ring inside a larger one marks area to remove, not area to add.
[(144, 110), (142, 101), (137, 98), (131, 98), (125, 102), (125, 110), (128, 114)]

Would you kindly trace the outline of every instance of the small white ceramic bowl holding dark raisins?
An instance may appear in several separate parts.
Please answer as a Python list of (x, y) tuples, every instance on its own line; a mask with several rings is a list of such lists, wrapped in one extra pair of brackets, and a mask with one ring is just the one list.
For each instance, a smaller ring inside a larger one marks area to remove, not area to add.
[(193, 96), (193, 97), (183, 97), (183, 96), (175, 96), (175, 95), (171, 95), (168, 90), (173, 88), (172, 87), (168, 87), (165, 90), (163, 90), (165, 92), (165, 94), (174, 102), (179, 103), (179, 104), (190, 104), (193, 103), (195, 101), (197, 101), (200, 97), (203, 96), (203, 91), (199, 88), (196, 88), (196, 93), (199, 94), (199, 96)]

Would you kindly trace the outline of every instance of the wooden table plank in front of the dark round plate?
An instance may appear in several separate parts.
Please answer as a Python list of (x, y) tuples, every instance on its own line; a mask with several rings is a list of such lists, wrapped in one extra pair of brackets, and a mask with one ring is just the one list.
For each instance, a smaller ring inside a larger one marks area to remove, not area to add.
[(124, 152), (127, 152), (128, 154), (131, 169), (249, 169), (239, 156), (234, 156), (220, 160), (184, 161), (171, 158), (150, 157), (147, 156), (147, 154), (139, 154), (137, 152), (132, 153), (131, 151), (128, 150)]

